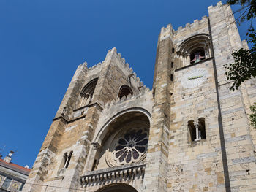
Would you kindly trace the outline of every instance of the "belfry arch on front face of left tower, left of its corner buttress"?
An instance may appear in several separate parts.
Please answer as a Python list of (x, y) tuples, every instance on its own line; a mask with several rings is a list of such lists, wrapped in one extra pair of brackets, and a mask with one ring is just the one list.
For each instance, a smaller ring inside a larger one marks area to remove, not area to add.
[(78, 107), (83, 107), (91, 103), (91, 98), (94, 95), (94, 89), (96, 87), (98, 78), (91, 80), (87, 85), (82, 89), (80, 93), (80, 103)]

